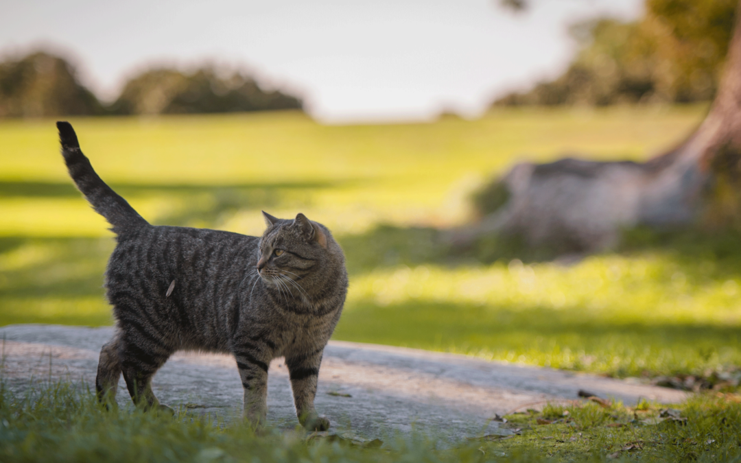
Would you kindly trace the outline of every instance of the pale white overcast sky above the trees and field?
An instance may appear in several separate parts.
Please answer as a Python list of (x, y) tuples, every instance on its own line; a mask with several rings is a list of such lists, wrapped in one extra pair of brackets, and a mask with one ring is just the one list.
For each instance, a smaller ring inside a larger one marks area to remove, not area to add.
[(568, 66), (568, 24), (642, 0), (1, 0), (0, 56), (71, 59), (104, 100), (153, 65), (207, 61), (299, 93), (330, 124), (479, 116)]

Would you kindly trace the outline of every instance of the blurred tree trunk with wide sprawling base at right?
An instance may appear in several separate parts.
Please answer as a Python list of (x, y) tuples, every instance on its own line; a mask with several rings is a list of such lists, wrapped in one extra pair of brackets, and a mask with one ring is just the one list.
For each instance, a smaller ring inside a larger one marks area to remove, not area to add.
[(453, 233), (453, 242), (513, 233), (531, 245), (593, 251), (617, 244), (626, 227), (739, 220), (741, 1), (717, 95), (702, 124), (677, 148), (645, 163), (566, 158), (518, 164), (489, 190), (504, 191), (508, 199), (478, 224)]

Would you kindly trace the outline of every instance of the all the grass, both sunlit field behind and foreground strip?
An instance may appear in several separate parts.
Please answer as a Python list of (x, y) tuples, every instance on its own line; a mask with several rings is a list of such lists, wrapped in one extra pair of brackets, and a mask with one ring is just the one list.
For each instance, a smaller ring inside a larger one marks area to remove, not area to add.
[[(499, 110), (477, 121), (368, 127), (323, 127), (296, 113), (73, 124), (103, 178), (155, 224), (259, 234), (260, 209), (327, 224), (351, 280), (334, 339), (733, 391), (739, 233), (635, 230), (619, 252), (569, 264), (496, 240), (449, 249), (439, 236), (468, 218), (468, 198), (487, 176), (521, 156), (646, 159), (702, 112)], [(0, 121), (0, 325), (110, 324), (102, 271), (113, 240), (67, 178), (52, 122)], [(732, 394), (678, 406), (684, 425), (647, 424), (659, 422), (650, 404), (546, 407), (508, 416), (523, 430), (513, 439), (445, 450), (422, 437), (374, 449), (296, 433), (257, 437), (191, 415), (101, 413), (68, 384), (26, 398), (0, 388), (8, 462), (740, 459)]]

